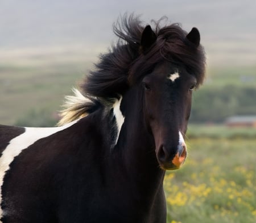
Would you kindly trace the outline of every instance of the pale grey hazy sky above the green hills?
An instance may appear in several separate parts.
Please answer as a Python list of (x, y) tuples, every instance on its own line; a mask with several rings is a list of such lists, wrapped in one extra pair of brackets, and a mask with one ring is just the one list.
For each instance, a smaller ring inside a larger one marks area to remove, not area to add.
[(117, 40), (118, 16), (134, 13), (199, 28), (210, 65), (255, 65), (255, 11), (255, 0), (0, 0), (0, 63), (65, 49), (94, 58)]

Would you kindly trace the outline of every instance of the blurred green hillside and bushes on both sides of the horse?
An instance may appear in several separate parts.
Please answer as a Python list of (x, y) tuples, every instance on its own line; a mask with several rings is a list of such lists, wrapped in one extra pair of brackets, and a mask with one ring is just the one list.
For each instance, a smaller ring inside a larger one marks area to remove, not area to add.
[[(81, 61), (0, 63), (0, 123), (52, 126), (64, 96), (90, 68), (92, 63)], [(255, 98), (256, 67), (210, 68), (203, 86), (193, 93), (190, 123), (223, 123), (232, 115), (256, 115)], [(43, 117), (45, 121), (36, 121)]]

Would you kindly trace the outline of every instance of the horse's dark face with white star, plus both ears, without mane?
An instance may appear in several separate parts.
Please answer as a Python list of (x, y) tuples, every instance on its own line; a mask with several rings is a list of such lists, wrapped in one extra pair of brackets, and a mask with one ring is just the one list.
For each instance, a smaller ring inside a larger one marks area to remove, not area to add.
[[(200, 35), (196, 28), (186, 36), (199, 46)], [(156, 41), (150, 26), (142, 34), (142, 52)], [(162, 60), (141, 79), (143, 113), (148, 131), (154, 136), (155, 153), (164, 170), (179, 168), (186, 159), (184, 134), (191, 113), (192, 91), (197, 86), (196, 76), (183, 63)]]

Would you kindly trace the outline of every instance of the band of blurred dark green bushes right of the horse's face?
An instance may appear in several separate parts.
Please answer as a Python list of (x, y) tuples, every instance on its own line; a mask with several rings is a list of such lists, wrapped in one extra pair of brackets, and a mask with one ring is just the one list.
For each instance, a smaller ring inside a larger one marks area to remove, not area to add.
[(190, 121), (220, 123), (232, 115), (255, 114), (255, 86), (205, 86), (195, 92)]

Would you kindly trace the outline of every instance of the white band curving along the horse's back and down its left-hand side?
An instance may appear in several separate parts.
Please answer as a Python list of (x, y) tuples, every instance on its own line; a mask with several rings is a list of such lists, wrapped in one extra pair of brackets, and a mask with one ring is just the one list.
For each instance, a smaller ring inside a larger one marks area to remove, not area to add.
[[(9, 170), (10, 164), (13, 162), (14, 158), (18, 156), (20, 152), (22, 152), (22, 150), (26, 149), (28, 146), (31, 146), (39, 139), (48, 137), (49, 135), (57, 133), (58, 131), (67, 129), (68, 127), (75, 124), (77, 121), (79, 121), (79, 119), (61, 127), (25, 127), (25, 132), (23, 134), (11, 139), (9, 145), (2, 152), (2, 156), (0, 158), (0, 204), (2, 202), (3, 179), (5, 177), (6, 171)], [(2, 216), (2, 214), (4, 213), (3, 210), (0, 208), (0, 217)]]

